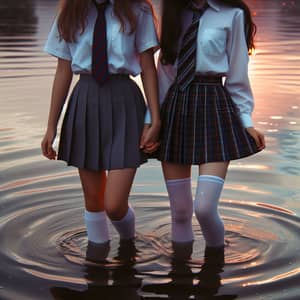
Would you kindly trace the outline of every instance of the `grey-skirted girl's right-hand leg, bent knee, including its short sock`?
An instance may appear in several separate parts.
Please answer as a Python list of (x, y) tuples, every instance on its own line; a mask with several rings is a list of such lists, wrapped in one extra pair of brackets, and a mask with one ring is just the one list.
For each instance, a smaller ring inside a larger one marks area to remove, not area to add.
[(135, 215), (128, 206), (128, 197), (136, 169), (109, 171), (106, 191), (105, 209), (121, 239), (132, 239), (135, 235)]

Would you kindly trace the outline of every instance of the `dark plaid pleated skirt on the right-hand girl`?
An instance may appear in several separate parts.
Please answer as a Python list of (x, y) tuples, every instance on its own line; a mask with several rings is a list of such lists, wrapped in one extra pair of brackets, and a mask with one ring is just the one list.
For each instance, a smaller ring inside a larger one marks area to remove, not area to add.
[(180, 91), (174, 83), (162, 105), (160, 161), (200, 165), (257, 153), (220, 77), (196, 77)]

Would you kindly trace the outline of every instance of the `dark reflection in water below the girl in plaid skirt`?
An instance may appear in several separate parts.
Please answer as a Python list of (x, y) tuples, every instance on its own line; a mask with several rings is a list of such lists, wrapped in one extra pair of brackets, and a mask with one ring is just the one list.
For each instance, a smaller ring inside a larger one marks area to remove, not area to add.
[[(171, 271), (168, 282), (144, 285), (142, 290), (156, 295), (167, 295), (167, 299), (236, 299), (237, 295), (217, 295), (221, 287), (224, 268), (224, 249), (206, 249), (201, 271), (193, 273), (189, 262), (193, 243), (173, 243)], [(203, 298), (202, 298), (203, 297)]]

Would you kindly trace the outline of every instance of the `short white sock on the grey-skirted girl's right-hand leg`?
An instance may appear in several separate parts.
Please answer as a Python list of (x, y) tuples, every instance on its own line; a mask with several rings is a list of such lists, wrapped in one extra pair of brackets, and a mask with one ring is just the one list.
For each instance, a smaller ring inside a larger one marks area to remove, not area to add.
[(121, 220), (111, 220), (121, 240), (129, 240), (135, 237), (135, 214), (131, 206), (128, 207), (125, 217)]

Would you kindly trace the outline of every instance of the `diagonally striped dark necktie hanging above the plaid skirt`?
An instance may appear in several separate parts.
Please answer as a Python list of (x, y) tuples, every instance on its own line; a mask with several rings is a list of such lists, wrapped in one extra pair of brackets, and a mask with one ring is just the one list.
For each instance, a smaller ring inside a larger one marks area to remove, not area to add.
[(181, 91), (184, 91), (195, 77), (199, 21), (207, 7), (206, 3), (200, 10), (193, 9), (192, 24), (182, 39), (177, 63), (177, 84)]

